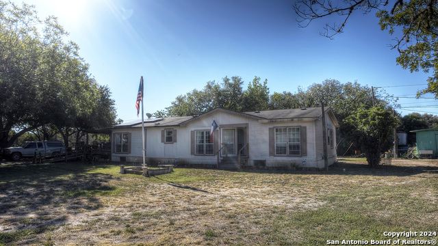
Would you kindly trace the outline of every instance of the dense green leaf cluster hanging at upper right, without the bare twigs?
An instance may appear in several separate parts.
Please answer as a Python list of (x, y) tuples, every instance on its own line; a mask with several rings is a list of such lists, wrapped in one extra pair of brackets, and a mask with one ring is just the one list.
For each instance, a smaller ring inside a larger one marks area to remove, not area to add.
[(391, 35), (397, 33), (399, 36), (393, 46), (400, 52), (397, 64), (411, 72), (432, 72), (428, 88), (418, 92), (418, 96), (431, 92), (438, 97), (437, 8), (437, 1), (400, 1), (390, 12), (380, 10), (376, 14), (382, 30), (387, 29)]

